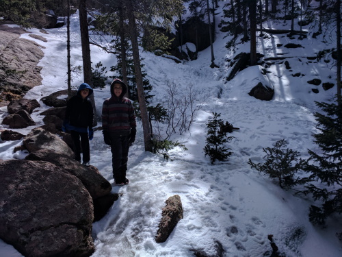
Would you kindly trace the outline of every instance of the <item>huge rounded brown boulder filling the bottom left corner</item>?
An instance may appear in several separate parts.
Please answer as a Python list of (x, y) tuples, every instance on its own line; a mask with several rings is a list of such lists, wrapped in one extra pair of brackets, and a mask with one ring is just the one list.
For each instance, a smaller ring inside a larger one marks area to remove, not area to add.
[(0, 238), (27, 257), (91, 256), (92, 198), (49, 162), (0, 160)]

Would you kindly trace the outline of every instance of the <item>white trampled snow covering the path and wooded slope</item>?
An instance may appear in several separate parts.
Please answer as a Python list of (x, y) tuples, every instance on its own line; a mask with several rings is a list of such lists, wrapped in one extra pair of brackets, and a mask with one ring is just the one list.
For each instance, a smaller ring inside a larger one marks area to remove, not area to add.
[[(222, 16), (218, 9), (216, 24)], [(267, 21), (266, 27), (282, 28), (282, 23)], [(287, 25), (289, 27), (289, 25)], [(77, 14), (71, 20), (72, 65), (81, 65), (81, 40)], [(47, 29), (42, 34), (38, 29), (29, 29), (22, 38), (35, 40), (45, 47), (42, 66), (42, 85), (31, 89), (25, 98), (37, 99), (57, 90), (66, 89), (66, 27)], [(231, 71), (226, 60), (240, 51), (249, 50), (249, 45), (237, 45), (235, 52), (229, 52), (225, 45), (229, 37), (216, 30), (213, 45), (215, 64), (211, 69), (210, 47), (198, 54), (198, 60), (176, 64), (173, 60), (141, 51), (144, 69), (153, 85), (154, 103), (165, 99), (166, 83), (172, 81), (183, 91), (189, 84), (207, 95), (207, 101), (196, 113), (196, 119), (189, 132), (173, 136), (187, 147), (187, 151), (172, 149), (172, 160), (144, 151), (141, 123), (138, 123), (135, 144), (129, 151), (127, 177), (129, 186), (114, 186), (112, 192), (120, 193), (107, 215), (93, 224), (92, 237), (96, 252), (92, 256), (194, 256), (192, 249), (215, 256), (213, 245), (219, 241), (224, 256), (269, 256), (272, 252), (269, 234), (273, 235), (279, 251), (286, 256), (337, 257), (342, 256), (341, 242), (335, 234), (342, 232), (341, 216), (332, 215), (326, 228), (312, 225), (308, 221), (308, 207), (311, 198), (297, 197), (293, 191), (284, 191), (267, 176), (251, 169), (249, 159), (262, 162), (263, 147), (272, 147), (276, 141), (285, 138), (288, 147), (299, 151), (302, 158), (308, 158), (307, 149), (319, 151), (313, 143), (312, 134), (317, 132), (313, 114), (319, 111), (315, 101), (329, 101), (336, 93), (336, 86), (323, 90), (321, 86), (308, 85), (307, 81), (320, 77), (323, 82), (336, 78), (336, 69), (324, 62), (312, 62), (306, 56), (314, 56), (326, 42), (314, 40), (308, 35), (304, 40), (290, 40), (284, 35), (257, 38), (258, 51), (268, 57), (287, 56), (291, 71), (283, 61), (276, 61), (267, 75), (261, 75), (260, 66), (252, 66), (237, 73), (234, 79), (225, 82)], [(47, 38), (42, 42), (28, 36), (29, 33)], [(299, 49), (275, 47), (278, 43), (298, 43)], [(108, 68), (116, 58), (91, 47), (92, 63), (101, 61)], [(301, 77), (293, 77), (293, 73)], [(111, 75), (110, 72), (107, 75)], [(81, 84), (82, 76), (75, 77), (73, 86)], [(257, 82), (271, 85), (275, 90), (272, 101), (260, 101), (250, 97), (249, 91)], [(318, 88), (319, 94), (311, 91)], [(222, 91), (222, 93), (220, 93)], [(218, 97), (220, 95), (220, 98)], [(103, 100), (109, 97), (109, 86), (95, 89), (96, 112), (101, 114)], [(40, 112), (49, 108), (40, 101), (41, 107), (32, 114), (36, 126), (16, 130), (27, 134), (42, 125)], [(233, 154), (225, 162), (211, 164), (205, 157), (206, 123), (212, 112), (221, 114), (221, 119), (239, 127), (231, 134), (235, 138), (228, 144)], [(8, 115), (7, 109), (0, 109), (0, 119)], [(101, 125), (99, 122), (98, 125)], [(0, 129), (7, 129), (0, 125)], [(0, 141), (0, 158), (3, 160), (23, 159), (28, 154), (20, 151), (13, 154), (14, 147), (22, 140)], [(90, 141), (91, 164), (113, 184), (111, 177), (111, 153), (103, 142), (101, 132), (94, 133)], [(184, 218), (165, 243), (155, 243), (161, 209), (172, 195), (180, 195)], [(268, 252), (269, 255), (265, 254)], [(265, 254), (265, 255), (264, 255)], [(16, 250), (0, 241), (0, 256), (21, 256)]]

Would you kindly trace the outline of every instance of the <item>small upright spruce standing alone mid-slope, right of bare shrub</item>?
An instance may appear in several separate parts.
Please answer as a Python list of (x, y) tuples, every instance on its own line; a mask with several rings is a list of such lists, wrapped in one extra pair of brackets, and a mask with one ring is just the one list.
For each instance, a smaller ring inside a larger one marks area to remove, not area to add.
[(207, 123), (207, 138), (204, 151), (205, 156), (209, 156), (211, 160), (211, 164), (215, 162), (215, 160), (226, 160), (228, 156), (231, 156), (230, 148), (224, 146), (225, 143), (232, 140), (233, 136), (226, 136), (225, 132), (221, 132), (220, 127), (224, 125), (224, 121), (219, 119), (221, 114), (213, 112), (213, 119), (209, 119)]

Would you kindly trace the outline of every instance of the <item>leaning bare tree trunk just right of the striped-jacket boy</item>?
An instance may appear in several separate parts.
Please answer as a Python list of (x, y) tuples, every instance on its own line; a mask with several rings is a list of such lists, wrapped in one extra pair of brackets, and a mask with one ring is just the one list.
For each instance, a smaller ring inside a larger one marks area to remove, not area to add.
[(140, 56), (139, 56), (139, 45), (137, 43), (137, 27), (135, 24), (135, 16), (133, 12), (133, 3), (131, 0), (127, 0), (127, 14), (129, 18), (129, 30), (131, 36), (132, 43), (132, 51), (133, 51), (133, 62), (135, 69), (135, 79), (137, 81), (137, 96), (139, 99), (140, 112), (142, 116), (142, 129), (144, 131), (144, 143), (145, 143), (145, 151), (153, 151), (151, 134), (150, 134), (150, 125), (148, 122), (148, 112), (146, 108), (145, 94), (144, 88), (142, 84), (142, 71), (140, 64)]

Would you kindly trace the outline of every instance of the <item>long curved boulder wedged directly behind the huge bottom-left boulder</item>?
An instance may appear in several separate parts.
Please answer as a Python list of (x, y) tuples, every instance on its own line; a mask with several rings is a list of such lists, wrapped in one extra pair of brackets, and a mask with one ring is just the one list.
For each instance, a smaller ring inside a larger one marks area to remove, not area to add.
[(29, 154), (26, 160), (44, 160), (75, 175), (86, 186), (91, 197), (96, 199), (111, 192), (111, 184), (103, 178), (96, 167), (86, 167), (69, 156), (48, 149), (40, 149)]

